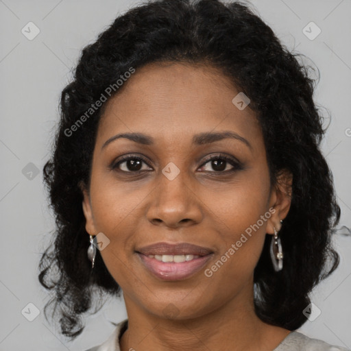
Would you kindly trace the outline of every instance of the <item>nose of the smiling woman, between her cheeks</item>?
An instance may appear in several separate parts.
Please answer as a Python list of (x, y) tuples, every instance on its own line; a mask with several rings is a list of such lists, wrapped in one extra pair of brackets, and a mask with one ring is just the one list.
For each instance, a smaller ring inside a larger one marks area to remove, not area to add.
[(147, 219), (158, 226), (179, 228), (192, 226), (202, 221), (202, 202), (193, 182), (185, 171), (170, 180), (160, 173), (160, 181), (152, 191), (151, 204), (147, 210)]

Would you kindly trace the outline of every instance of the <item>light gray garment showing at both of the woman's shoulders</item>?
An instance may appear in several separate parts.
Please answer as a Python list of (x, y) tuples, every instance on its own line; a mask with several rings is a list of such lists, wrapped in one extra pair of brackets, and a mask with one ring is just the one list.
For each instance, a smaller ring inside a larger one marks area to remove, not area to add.
[[(128, 319), (124, 319), (122, 322), (117, 324), (116, 328), (108, 337), (108, 339), (99, 346), (90, 348), (86, 351), (121, 351), (119, 348), (119, 342), (123, 332), (128, 328)], [(348, 348), (341, 348), (340, 346), (332, 346), (328, 343), (311, 339), (306, 337), (300, 332), (293, 331), (272, 351), (351, 351)]]

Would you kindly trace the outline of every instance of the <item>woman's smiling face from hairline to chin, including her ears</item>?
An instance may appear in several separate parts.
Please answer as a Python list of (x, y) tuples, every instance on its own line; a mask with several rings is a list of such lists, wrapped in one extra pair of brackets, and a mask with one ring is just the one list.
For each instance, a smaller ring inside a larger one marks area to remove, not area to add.
[[(188, 319), (252, 305), (265, 234), (290, 203), (269, 182), (260, 125), (232, 102), (238, 93), (210, 66), (149, 64), (106, 103), (83, 208), (87, 232), (109, 240), (100, 253), (128, 310)], [(158, 258), (190, 261), (163, 263), (138, 253), (161, 242), (209, 254), (191, 260), (180, 247)]]

